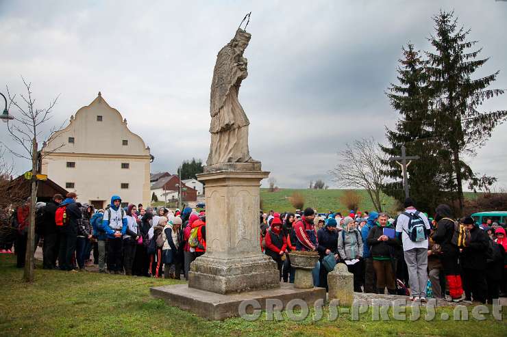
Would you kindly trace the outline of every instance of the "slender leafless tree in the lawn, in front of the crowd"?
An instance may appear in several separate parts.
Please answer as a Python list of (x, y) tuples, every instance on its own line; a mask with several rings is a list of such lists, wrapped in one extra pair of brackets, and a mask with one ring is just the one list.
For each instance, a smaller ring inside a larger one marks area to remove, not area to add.
[[(51, 113), (58, 100), (58, 96), (54, 100), (51, 100), (45, 109), (36, 109), (36, 100), (32, 97), (32, 83), (27, 83), (23, 77), (21, 77), (21, 79), (23, 79), (26, 93), (20, 94), (19, 96), (23, 100), (24, 104), (18, 103), (16, 100), (16, 95), (11, 96), (9, 87), (7, 87), (7, 93), (9, 96), (9, 108), (11, 106), (14, 106), (17, 109), (16, 113), (13, 114), (14, 121), (8, 122), (7, 129), (10, 137), (14, 139), (18, 146), (20, 146), (20, 149), (16, 150), (10, 146), (6, 146), (5, 144), (3, 144), (3, 146), (5, 146), (5, 148), (7, 148), (14, 156), (32, 161), (30, 225), (28, 230), (27, 252), (25, 255), (25, 273), (23, 274), (23, 280), (26, 282), (32, 282), (34, 280), (35, 208), (37, 201), (36, 176), (39, 172), (38, 163), (40, 159), (37, 139), (42, 135), (42, 131), (40, 131), (39, 127), (42, 126), (42, 124), (45, 124), (45, 122), (49, 121), (52, 117)], [(63, 124), (59, 129), (61, 129), (62, 126)], [(50, 134), (55, 131), (57, 130), (51, 129)], [(52, 152), (55, 152), (59, 148), (62, 148), (62, 146), (64, 146), (64, 144), (57, 146), (51, 152), (45, 154), (45, 156)]]

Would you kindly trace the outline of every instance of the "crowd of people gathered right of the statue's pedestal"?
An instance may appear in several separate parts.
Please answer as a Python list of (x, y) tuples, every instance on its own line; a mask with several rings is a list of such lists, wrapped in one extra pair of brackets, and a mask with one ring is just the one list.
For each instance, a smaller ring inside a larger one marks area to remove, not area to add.
[(454, 219), (441, 204), (433, 217), (407, 198), (404, 211), (390, 217), (375, 211), (319, 214), (312, 208), (296, 213), (260, 214), (260, 246), (294, 282), (289, 252), (319, 254), (314, 284), (327, 288), (327, 273), (345, 263), (354, 274), (354, 291), (428, 297), (447, 301), (493, 303), (507, 294), (505, 225), (491, 219)]

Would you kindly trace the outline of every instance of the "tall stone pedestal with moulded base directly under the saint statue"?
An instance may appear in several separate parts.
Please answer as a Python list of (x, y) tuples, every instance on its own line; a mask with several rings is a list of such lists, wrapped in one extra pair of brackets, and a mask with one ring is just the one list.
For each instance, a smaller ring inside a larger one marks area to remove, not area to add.
[[(258, 170), (251, 170), (258, 169)], [(206, 254), (190, 265), (188, 287), (219, 294), (280, 287), (276, 263), (260, 250), (260, 163), (206, 167)]]

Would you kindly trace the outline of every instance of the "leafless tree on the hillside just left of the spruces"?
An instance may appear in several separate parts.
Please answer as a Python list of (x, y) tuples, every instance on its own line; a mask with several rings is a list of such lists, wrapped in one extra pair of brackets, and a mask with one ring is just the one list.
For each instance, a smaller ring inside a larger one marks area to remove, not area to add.
[(373, 138), (363, 138), (347, 144), (338, 152), (338, 165), (330, 171), (339, 187), (365, 189), (376, 211), (382, 211), (384, 176), (383, 152)]

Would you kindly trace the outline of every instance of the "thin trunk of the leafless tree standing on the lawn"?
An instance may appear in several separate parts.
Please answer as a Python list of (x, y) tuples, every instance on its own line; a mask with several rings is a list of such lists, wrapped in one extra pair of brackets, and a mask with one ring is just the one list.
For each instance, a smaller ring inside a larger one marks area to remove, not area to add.
[(27, 251), (25, 254), (25, 273), (23, 280), (32, 282), (34, 280), (34, 244), (35, 244), (35, 211), (37, 204), (37, 141), (32, 140), (32, 193), (30, 194), (30, 225), (28, 227)]

